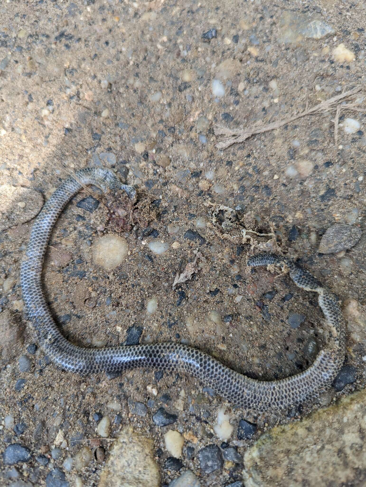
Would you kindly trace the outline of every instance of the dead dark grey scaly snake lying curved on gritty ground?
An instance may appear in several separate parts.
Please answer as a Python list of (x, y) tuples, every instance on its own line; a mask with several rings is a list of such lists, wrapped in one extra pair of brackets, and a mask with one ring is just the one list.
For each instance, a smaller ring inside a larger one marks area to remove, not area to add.
[(93, 184), (102, 190), (124, 190), (130, 197), (131, 186), (121, 185), (108, 169), (81, 169), (65, 180), (45, 203), (32, 228), (21, 263), (21, 288), (28, 319), (39, 342), (59, 367), (79, 374), (122, 372), (135, 368), (179, 371), (197, 377), (230, 402), (255, 413), (285, 409), (314, 398), (329, 386), (343, 364), (345, 356), (345, 323), (338, 298), (295, 262), (273, 254), (249, 258), (249, 266), (273, 264), (286, 269), (295, 284), (318, 293), (319, 305), (329, 328), (327, 345), (305, 371), (281, 380), (261, 381), (235, 372), (218, 360), (195, 348), (179, 343), (119, 346), (91, 349), (70, 343), (60, 333), (47, 305), (42, 288), (43, 260), (52, 227), (70, 199), (84, 186)]

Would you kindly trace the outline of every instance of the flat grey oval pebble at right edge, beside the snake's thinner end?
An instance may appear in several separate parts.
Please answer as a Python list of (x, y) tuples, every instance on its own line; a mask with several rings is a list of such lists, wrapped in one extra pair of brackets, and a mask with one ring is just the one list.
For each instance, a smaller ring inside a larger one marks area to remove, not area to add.
[(361, 238), (361, 229), (357, 226), (335, 224), (323, 235), (318, 251), (321, 254), (335, 254), (352, 248)]

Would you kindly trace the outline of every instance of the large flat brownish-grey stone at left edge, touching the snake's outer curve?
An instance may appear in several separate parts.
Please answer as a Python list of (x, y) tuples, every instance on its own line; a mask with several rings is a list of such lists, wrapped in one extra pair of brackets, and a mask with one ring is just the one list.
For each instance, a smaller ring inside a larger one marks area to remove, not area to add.
[(2, 231), (34, 218), (42, 208), (43, 196), (35, 189), (3, 184), (0, 185), (0, 201), (0, 231)]

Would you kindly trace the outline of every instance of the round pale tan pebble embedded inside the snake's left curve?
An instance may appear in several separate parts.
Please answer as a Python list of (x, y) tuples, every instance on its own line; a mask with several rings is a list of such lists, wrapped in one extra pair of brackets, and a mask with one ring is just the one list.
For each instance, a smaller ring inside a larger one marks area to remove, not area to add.
[(127, 252), (128, 245), (124, 238), (105, 235), (93, 244), (93, 261), (111, 270), (125, 261)]

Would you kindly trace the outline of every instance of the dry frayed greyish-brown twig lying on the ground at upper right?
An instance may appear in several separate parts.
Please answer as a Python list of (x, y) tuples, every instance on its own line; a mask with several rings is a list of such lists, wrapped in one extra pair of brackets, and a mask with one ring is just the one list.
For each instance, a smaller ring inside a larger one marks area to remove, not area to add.
[[(248, 139), (252, 135), (279, 129), (280, 127), (283, 127), (288, 123), (294, 122), (298, 118), (304, 117), (305, 115), (314, 115), (316, 113), (331, 112), (333, 110), (337, 111), (339, 103), (341, 101), (345, 101), (349, 99), (351, 96), (357, 94), (360, 91), (361, 91), (361, 87), (353, 88), (353, 90), (349, 90), (348, 92), (338, 94), (337, 96), (333, 96), (333, 98), (323, 101), (318, 105), (315, 105), (315, 107), (305, 110), (304, 112), (297, 113), (296, 115), (292, 115), (291, 117), (285, 118), (278, 122), (272, 122), (268, 125), (265, 125), (261, 122), (257, 122), (256, 124), (254, 124), (252, 128), (234, 129), (234, 130), (227, 129), (226, 127), (219, 127), (216, 125), (214, 127), (215, 135), (223, 136), (222, 140), (216, 144), (216, 147), (217, 149), (227, 149), (227, 147), (231, 146), (232, 144), (239, 144), (241, 142), (244, 142), (244, 140)], [(357, 108), (356, 103), (349, 103), (348, 105), (341, 106), (341, 110), (346, 108), (349, 110), (357, 110), (359, 112), (366, 111), (361, 108)], [(338, 130), (338, 125), (336, 125), (335, 127), (337, 127)], [(336, 133), (335, 129), (334, 132)]]

